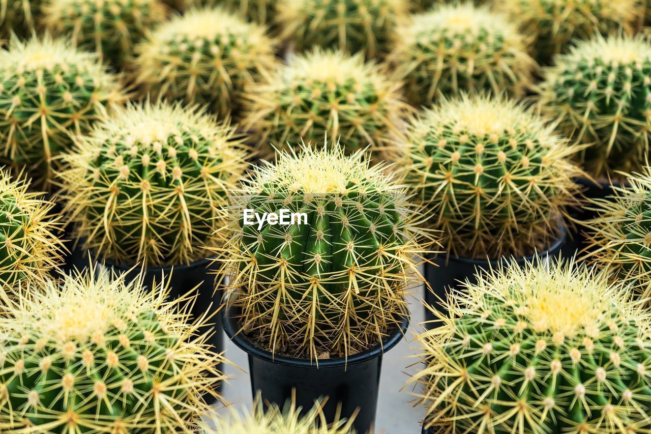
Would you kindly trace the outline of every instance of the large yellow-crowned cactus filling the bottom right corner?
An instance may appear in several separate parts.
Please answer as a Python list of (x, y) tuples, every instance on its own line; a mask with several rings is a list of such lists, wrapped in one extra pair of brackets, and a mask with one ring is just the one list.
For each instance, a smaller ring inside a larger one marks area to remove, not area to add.
[(644, 429), (650, 314), (605, 274), (516, 264), (450, 296), (419, 336), (426, 427), (514, 433)]

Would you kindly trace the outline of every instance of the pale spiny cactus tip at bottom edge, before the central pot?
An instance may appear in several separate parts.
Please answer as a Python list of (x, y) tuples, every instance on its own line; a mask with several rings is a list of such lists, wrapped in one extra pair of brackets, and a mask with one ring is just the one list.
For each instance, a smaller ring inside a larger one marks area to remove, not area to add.
[(243, 414), (230, 409), (226, 416), (211, 412), (202, 427), (203, 434), (353, 434), (353, 418), (328, 421), (321, 409), (322, 403), (304, 411), (294, 401), (287, 401), (281, 409), (272, 404), (263, 405), (260, 395), (253, 401), (253, 411)]

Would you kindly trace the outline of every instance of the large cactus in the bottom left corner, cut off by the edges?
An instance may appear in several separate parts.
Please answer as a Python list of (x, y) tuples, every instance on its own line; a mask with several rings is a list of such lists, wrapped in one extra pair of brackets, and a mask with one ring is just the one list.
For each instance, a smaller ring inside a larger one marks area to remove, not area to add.
[(0, 318), (1, 431), (190, 432), (223, 379), (191, 302), (95, 271), (49, 282)]

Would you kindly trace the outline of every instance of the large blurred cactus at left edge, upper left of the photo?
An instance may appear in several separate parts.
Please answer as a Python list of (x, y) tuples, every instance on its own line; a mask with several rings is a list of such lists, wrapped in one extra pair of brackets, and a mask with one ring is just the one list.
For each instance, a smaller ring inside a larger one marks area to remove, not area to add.
[(121, 104), (117, 78), (62, 40), (12, 40), (0, 50), (0, 143), (10, 163), (48, 184), (72, 137)]

